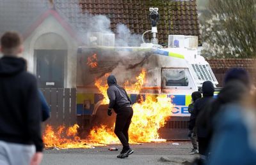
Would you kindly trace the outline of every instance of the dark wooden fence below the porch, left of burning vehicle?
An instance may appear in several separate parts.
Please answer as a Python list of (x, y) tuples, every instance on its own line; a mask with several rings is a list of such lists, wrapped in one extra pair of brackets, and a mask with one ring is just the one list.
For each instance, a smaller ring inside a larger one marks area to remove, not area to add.
[(45, 122), (51, 126), (72, 126), (76, 118), (76, 89), (41, 89), (51, 108), (51, 117)]

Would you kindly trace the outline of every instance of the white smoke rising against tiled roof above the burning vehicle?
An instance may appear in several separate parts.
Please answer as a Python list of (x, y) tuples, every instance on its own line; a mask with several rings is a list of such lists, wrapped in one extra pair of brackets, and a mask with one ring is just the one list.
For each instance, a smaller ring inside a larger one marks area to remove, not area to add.
[[(106, 15), (92, 15), (89, 11), (82, 10), (78, 0), (75, 6), (74, 4), (72, 5), (72, 12), (75, 13), (76, 18), (74, 20), (70, 20), (69, 18), (68, 22), (71, 22), (73, 25), (76, 24), (75, 29), (78, 30), (77, 36), (83, 40), (83, 43), (88, 44), (90, 33), (102, 32), (105, 34), (115, 33), (115, 46), (117, 47), (140, 46), (141, 35), (131, 34), (131, 31), (126, 25), (116, 25), (116, 32), (113, 32), (111, 29), (111, 20)], [(61, 12), (58, 9), (58, 5), (56, 9)], [(63, 14), (65, 16), (65, 13)]]

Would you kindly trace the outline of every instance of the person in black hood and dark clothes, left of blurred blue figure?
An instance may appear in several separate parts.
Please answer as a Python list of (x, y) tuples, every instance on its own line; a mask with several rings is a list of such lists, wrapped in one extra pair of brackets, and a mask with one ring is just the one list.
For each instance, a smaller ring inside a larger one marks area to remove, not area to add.
[(204, 82), (202, 85), (203, 97), (201, 99), (196, 100), (194, 105), (194, 113), (191, 114), (191, 123), (189, 125), (189, 129), (193, 129), (196, 125), (196, 133), (198, 137), (198, 149), (200, 154), (200, 159), (205, 160), (207, 154), (207, 146), (209, 141), (207, 139), (207, 130), (204, 126), (200, 124), (196, 124), (196, 120), (202, 113), (204, 113), (205, 107), (207, 104), (211, 103), (214, 99), (214, 86), (212, 82)]

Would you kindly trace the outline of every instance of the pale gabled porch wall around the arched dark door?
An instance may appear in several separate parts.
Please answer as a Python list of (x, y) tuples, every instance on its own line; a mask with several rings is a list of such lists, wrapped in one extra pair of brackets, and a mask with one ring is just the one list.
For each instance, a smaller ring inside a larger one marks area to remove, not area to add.
[[(28, 70), (36, 74), (36, 59), (34, 56), (34, 49), (36, 39), (43, 34), (49, 32), (60, 35), (67, 43), (67, 60), (65, 60), (64, 69), (64, 87), (76, 87), (76, 53), (79, 46), (76, 39), (72, 38), (70, 34), (61, 26), (61, 24), (54, 17), (49, 16), (40, 24), (35, 31), (33, 31), (24, 41), (24, 58), (28, 60)], [(58, 45), (58, 43), (56, 43)], [(38, 47), (36, 46), (38, 49)], [(42, 46), (42, 49), (49, 49)], [(53, 47), (54, 49), (54, 47)]]

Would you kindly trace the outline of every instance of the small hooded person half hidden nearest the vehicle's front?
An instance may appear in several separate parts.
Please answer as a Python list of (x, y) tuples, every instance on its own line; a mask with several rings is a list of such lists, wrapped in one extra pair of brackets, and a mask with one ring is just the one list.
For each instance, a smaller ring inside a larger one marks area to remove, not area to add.
[[(191, 97), (192, 97), (192, 103), (189, 104), (188, 111), (191, 114), (191, 116), (193, 117), (194, 116), (194, 104), (195, 104), (197, 99), (200, 99), (202, 97), (202, 94), (200, 92), (196, 91), (196, 92), (193, 92), (191, 94)], [(191, 116), (190, 116), (189, 122), (191, 122), (191, 119), (192, 119)], [(191, 152), (189, 152), (189, 154), (198, 154), (198, 147), (197, 147), (197, 138), (196, 138), (195, 127), (193, 129), (189, 129), (188, 136), (189, 136), (189, 138), (191, 140), (191, 143), (193, 145), (193, 150)]]

